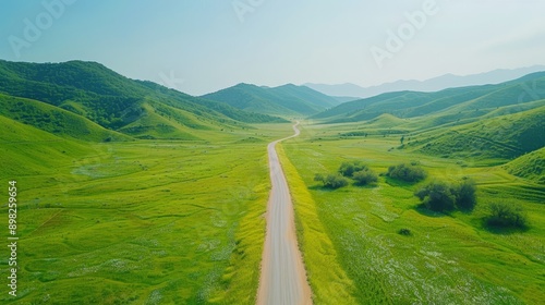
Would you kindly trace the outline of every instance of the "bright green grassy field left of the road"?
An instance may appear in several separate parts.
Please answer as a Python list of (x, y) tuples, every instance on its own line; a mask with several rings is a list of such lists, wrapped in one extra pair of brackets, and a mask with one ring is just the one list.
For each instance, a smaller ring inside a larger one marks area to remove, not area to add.
[(21, 240), (17, 297), (4, 293), (1, 303), (255, 303), (266, 144), (289, 135), (289, 124), (210, 133), (209, 142), (95, 144), (2, 124), (11, 166), (0, 182), (17, 181)]

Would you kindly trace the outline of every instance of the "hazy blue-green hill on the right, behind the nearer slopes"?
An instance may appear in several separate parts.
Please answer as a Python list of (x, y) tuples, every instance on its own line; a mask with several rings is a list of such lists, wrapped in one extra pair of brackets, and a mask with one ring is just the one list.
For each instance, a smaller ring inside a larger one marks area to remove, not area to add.
[[(313, 115), (325, 122), (358, 122), (383, 113), (398, 118), (433, 115), (433, 125), (472, 120), (501, 107), (511, 107), (511, 113), (528, 110), (530, 102), (545, 97), (545, 72), (533, 73), (498, 85), (450, 88), (437, 93), (398, 91), (372, 98), (344, 102)], [(540, 107), (543, 103), (532, 103)]]

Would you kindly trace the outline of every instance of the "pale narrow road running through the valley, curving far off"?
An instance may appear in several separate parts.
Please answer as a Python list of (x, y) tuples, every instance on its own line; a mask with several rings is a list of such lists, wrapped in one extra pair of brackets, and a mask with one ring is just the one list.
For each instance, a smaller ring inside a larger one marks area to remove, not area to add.
[(271, 191), (267, 206), (267, 233), (257, 291), (258, 305), (312, 304), (303, 259), (299, 252), (290, 190), (275, 146), (299, 135), (299, 122), (292, 136), (267, 146)]

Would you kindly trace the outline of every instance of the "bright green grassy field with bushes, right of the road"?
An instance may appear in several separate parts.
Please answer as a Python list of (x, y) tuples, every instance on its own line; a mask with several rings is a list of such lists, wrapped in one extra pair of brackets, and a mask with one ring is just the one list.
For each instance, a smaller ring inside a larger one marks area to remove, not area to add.
[[(540, 304), (545, 300), (545, 187), (496, 160), (439, 158), (395, 149), (399, 136), (342, 136), (356, 124), (303, 124), (282, 144), (298, 233), (315, 304)], [(324, 190), (315, 173), (362, 160), (377, 173), (417, 160), (434, 178), (477, 183), (472, 212), (432, 213), (413, 195), (421, 185), (379, 176), (376, 185)], [(526, 231), (491, 232), (493, 202), (518, 202)], [(409, 229), (411, 235), (398, 233)], [(332, 248), (329, 246), (332, 245)], [(330, 263), (324, 263), (329, 259)], [(327, 286), (334, 286), (331, 291)], [(347, 296), (348, 295), (348, 296)]]

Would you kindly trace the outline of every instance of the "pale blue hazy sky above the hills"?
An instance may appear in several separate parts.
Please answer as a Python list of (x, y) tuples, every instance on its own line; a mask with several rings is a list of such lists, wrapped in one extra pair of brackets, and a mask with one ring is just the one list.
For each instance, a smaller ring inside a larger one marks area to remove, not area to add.
[[(410, 25), (416, 11), (426, 20)], [(0, 0), (0, 58), (97, 61), (192, 95), (241, 82), (371, 86), (545, 64), (544, 12), (521, 0)], [(388, 49), (388, 30), (402, 46)], [(376, 60), (373, 46), (389, 54)]]

